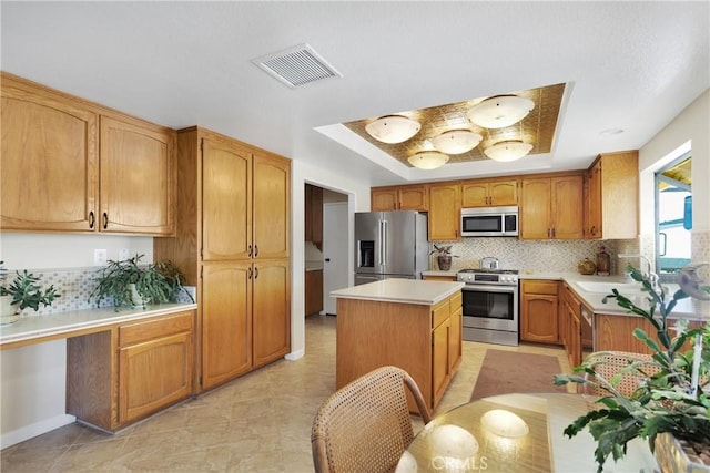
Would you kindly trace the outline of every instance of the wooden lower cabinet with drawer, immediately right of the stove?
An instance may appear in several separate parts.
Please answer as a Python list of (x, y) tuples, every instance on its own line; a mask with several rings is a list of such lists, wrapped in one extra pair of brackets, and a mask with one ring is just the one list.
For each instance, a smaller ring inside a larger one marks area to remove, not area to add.
[(559, 343), (558, 282), (520, 281), (520, 340)]

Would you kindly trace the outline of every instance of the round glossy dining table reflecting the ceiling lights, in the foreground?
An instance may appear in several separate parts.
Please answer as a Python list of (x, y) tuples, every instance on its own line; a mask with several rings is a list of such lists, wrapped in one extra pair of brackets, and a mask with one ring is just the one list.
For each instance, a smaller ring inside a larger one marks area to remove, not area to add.
[[(405, 472), (594, 473), (596, 441), (588, 430), (569, 439), (565, 428), (595, 409), (594, 397), (516, 393), (483, 398), (437, 415), (402, 455)], [(628, 443), (623, 459), (610, 456), (605, 473), (652, 473), (660, 469), (648, 442)]]

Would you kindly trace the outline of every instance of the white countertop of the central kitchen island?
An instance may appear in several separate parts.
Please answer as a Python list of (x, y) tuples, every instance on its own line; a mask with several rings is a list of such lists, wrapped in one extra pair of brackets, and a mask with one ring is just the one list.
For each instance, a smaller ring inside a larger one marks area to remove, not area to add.
[(383, 302), (420, 304), (432, 306), (460, 290), (464, 282), (425, 281), (420, 279), (384, 279), (338, 289), (333, 297), (376, 300)]

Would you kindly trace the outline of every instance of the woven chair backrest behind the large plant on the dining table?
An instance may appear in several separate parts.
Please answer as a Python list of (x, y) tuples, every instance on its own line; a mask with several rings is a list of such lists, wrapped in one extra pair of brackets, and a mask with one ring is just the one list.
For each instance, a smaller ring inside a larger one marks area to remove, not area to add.
[[(651, 376), (658, 371), (658, 368), (643, 364), (646, 361), (651, 360), (650, 354), (646, 353), (632, 353), (628, 351), (598, 351), (591, 353), (587, 360), (595, 363), (594, 369), (604, 379), (610, 381), (612, 377), (619, 372), (628, 369), (631, 363), (639, 363), (639, 369), (643, 370), (647, 374)], [(638, 372), (636, 369), (629, 369), (621, 374), (617, 390), (625, 397), (630, 397), (633, 391), (639, 387), (646, 377)], [(594, 381), (594, 378), (591, 378)], [(607, 391), (601, 388), (590, 387), (588, 393), (596, 395), (607, 395)]]

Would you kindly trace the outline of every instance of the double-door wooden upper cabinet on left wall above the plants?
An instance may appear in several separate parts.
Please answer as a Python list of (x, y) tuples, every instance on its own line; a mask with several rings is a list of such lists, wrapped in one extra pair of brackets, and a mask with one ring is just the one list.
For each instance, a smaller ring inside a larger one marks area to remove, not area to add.
[(174, 143), (170, 128), (2, 73), (2, 229), (173, 235)]

